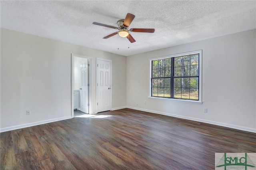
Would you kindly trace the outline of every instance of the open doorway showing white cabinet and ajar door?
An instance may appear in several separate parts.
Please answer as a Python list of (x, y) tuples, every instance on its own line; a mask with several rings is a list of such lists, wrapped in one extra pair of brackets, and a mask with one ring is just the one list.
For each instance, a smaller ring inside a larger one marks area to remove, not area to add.
[(72, 117), (74, 110), (91, 114), (91, 62), (90, 57), (72, 54)]

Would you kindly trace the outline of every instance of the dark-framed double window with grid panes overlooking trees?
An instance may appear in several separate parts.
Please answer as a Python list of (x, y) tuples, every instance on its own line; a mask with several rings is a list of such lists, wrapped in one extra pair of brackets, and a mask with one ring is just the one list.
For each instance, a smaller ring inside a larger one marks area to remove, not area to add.
[(150, 60), (150, 97), (200, 101), (201, 51)]

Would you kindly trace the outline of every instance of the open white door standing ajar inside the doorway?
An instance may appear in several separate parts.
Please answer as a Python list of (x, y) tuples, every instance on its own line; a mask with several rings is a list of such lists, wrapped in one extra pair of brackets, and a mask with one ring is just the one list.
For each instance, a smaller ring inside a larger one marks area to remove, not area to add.
[(81, 89), (81, 107), (80, 110), (84, 113), (89, 113), (89, 81), (88, 81), (88, 60), (81, 65), (81, 81), (82, 81), (82, 89)]

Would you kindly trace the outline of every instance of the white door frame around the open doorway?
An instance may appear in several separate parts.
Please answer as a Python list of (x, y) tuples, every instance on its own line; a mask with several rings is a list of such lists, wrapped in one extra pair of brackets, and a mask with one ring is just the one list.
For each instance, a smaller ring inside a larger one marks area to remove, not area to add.
[[(89, 60), (89, 114), (92, 114), (92, 57), (71, 53), (71, 117), (74, 118), (74, 57), (86, 58)], [(80, 99), (80, 97), (79, 97)]]

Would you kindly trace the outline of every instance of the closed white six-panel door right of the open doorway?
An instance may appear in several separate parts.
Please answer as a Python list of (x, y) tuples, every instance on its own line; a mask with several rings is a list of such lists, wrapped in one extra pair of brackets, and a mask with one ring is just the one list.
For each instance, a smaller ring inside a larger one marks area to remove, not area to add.
[(97, 61), (97, 111), (110, 111), (111, 61), (102, 59)]

